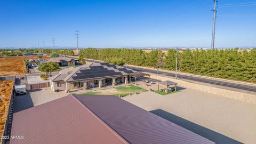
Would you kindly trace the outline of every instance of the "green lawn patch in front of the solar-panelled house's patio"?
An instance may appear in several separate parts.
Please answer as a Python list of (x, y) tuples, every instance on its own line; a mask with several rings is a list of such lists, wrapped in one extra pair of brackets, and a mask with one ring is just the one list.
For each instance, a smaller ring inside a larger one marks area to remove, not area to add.
[(135, 92), (141, 93), (141, 92), (147, 91), (135, 85), (118, 86), (118, 87), (115, 87), (114, 89), (116, 89), (115, 92), (106, 93), (104, 92), (104, 90), (102, 90), (97, 92), (86, 92), (86, 93), (82, 93), (82, 95), (115, 95), (116, 97), (119, 97), (119, 95), (122, 95), (122, 97), (125, 97), (126, 95), (134, 94)]

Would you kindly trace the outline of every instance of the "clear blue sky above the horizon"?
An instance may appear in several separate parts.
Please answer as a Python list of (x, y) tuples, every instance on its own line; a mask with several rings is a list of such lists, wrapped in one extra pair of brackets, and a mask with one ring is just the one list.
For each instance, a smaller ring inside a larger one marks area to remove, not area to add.
[[(256, 1), (219, 0), (215, 47), (256, 46)], [(231, 5), (230, 5), (231, 4)], [(235, 5), (232, 5), (235, 4)], [(210, 47), (211, 0), (0, 0), (0, 47)]]

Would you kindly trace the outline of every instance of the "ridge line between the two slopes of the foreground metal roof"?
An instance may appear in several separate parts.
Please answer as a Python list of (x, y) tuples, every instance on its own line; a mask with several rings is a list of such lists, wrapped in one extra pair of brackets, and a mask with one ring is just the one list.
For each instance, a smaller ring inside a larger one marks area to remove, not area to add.
[(113, 134), (116, 135), (116, 137), (118, 139), (120, 139), (122, 142), (124, 143), (130, 143), (128, 140), (126, 140), (124, 137), (122, 137), (121, 134), (119, 134), (115, 129), (113, 129), (110, 125), (108, 125), (105, 121), (103, 121), (102, 118), (100, 118), (97, 114), (95, 114), (89, 107), (87, 107), (86, 105), (84, 105), (84, 103), (82, 101), (80, 101), (79, 99), (77, 99), (75, 97), (74, 94), (70, 94), (70, 96), (72, 98), (74, 98), (82, 107), (84, 107), (87, 111), (89, 111), (89, 113), (92, 114), (92, 116), (94, 116), (96, 119), (98, 119), (99, 122), (101, 122), (109, 131), (111, 131)]

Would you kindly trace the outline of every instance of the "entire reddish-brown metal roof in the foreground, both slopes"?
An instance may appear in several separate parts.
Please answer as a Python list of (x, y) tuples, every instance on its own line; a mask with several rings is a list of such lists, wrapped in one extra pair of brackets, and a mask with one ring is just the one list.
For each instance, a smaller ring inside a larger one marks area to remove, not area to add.
[(68, 95), (13, 115), (12, 144), (214, 143), (114, 95)]

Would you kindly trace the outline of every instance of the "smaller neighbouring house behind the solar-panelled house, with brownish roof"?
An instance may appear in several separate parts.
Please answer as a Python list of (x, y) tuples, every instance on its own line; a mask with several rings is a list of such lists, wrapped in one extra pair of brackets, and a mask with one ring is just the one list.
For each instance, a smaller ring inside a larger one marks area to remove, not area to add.
[(55, 62), (55, 63), (58, 63), (61, 67), (76, 65), (76, 60), (68, 57), (52, 58), (52, 59), (46, 60), (45, 62)]

